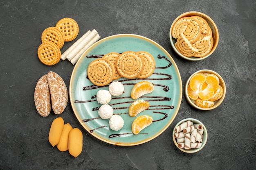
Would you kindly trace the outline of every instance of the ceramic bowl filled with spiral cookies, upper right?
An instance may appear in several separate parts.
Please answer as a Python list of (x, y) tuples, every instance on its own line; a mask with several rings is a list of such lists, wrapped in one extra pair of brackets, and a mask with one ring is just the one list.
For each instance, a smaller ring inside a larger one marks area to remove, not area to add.
[(170, 28), (173, 50), (182, 58), (198, 61), (209, 57), (218, 46), (219, 32), (206, 14), (190, 11), (178, 16)]

